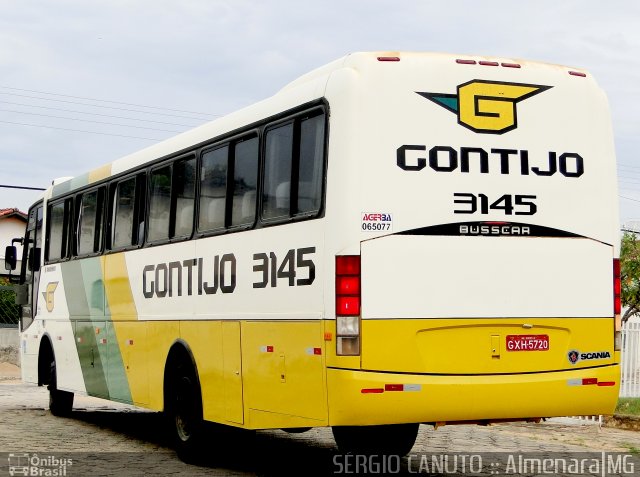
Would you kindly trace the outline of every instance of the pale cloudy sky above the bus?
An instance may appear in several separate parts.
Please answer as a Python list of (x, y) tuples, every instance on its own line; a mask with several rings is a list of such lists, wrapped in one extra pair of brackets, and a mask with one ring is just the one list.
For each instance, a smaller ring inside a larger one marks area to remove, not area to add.
[[(0, 184), (44, 188), (376, 50), (587, 69), (611, 106), (621, 224), (640, 226), (637, 0), (0, 0)], [(38, 194), (0, 188), (0, 208)]]

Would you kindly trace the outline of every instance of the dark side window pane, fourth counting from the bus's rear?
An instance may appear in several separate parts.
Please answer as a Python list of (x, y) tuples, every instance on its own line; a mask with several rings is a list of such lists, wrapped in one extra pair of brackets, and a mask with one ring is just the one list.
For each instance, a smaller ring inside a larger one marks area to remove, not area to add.
[(202, 155), (200, 170), (200, 212), (198, 230), (218, 230), (225, 226), (229, 146)]

